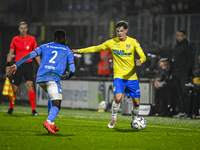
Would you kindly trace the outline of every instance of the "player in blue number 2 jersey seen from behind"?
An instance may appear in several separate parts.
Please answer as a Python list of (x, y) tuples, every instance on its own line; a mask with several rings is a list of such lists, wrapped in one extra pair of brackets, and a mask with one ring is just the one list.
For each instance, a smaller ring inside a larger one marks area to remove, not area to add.
[[(47, 120), (43, 126), (49, 133), (55, 134), (59, 128), (55, 126), (54, 120), (57, 117), (62, 101), (61, 77), (70, 79), (75, 72), (74, 56), (66, 46), (65, 31), (58, 29), (54, 32), (54, 42), (41, 45), (28, 55), (21, 58), (11, 67), (7, 67), (6, 74), (15, 74), (17, 68), (25, 61), (39, 56), (41, 63), (37, 72), (37, 83), (49, 94), (52, 107), (48, 113)], [(62, 76), (68, 64), (69, 72)]]

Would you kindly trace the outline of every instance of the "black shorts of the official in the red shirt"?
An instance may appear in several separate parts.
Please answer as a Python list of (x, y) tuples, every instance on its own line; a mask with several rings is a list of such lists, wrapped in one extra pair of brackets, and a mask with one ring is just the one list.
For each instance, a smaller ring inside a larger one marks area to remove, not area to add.
[(33, 81), (32, 62), (23, 63), (17, 68), (16, 73), (13, 75), (12, 83), (19, 86), (23, 76), (25, 81)]

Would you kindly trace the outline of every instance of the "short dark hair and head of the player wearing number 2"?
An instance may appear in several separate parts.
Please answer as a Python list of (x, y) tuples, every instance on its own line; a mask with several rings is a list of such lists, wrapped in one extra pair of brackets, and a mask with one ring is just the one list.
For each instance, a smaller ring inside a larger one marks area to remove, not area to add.
[(54, 32), (54, 41), (56, 41), (59, 44), (62, 45), (67, 45), (66, 41), (65, 41), (65, 31), (63, 29), (57, 29)]

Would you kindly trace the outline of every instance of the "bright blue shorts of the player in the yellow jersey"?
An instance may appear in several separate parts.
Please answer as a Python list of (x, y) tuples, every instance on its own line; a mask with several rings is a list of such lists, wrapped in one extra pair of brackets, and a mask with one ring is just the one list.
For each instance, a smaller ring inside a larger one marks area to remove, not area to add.
[(115, 78), (113, 80), (113, 90), (114, 95), (118, 93), (124, 93), (127, 96), (140, 98), (140, 87), (139, 81), (137, 80), (125, 80), (120, 78)]

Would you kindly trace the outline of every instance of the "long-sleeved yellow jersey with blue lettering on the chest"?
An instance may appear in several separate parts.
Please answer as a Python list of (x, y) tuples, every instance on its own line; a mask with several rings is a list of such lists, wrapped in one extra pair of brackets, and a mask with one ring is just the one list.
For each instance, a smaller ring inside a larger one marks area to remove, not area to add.
[(114, 79), (136, 80), (135, 52), (140, 56), (140, 61), (144, 63), (146, 56), (140, 47), (139, 42), (127, 36), (125, 41), (120, 41), (118, 37), (88, 48), (78, 49), (78, 53), (93, 53), (110, 49), (113, 55)]

